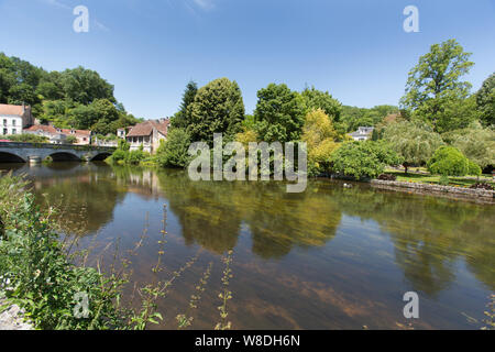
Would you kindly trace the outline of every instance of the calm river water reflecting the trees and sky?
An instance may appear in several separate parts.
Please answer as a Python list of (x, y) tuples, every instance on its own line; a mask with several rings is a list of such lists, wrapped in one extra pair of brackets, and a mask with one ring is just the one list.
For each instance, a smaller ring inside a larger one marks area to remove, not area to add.
[(403, 295), (410, 290), (420, 300), (415, 328), (479, 329), (474, 319), (484, 318), (495, 292), (493, 205), (364, 184), (348, 189), (328, 179), (286, 194), (279, 183), (194, 183), (180, 170), (68, 163), (0, 168), (28, 174), (38, 202), (66, 213), (61, 226), (81, 237), (80, 248), (98, 252), (119, 242), (125, 252), (147, 229), (132, 262), (139, 284), (156, 279), (151, 268), (165, 212), (160, 278), (197, 260), (160, 301), (162, 329), (176, 328), (210, 262), (193, 328), (220, 321), (221, 257), (231, 249), (228, 311), (235, 329), (395, 329), (407, 323)]

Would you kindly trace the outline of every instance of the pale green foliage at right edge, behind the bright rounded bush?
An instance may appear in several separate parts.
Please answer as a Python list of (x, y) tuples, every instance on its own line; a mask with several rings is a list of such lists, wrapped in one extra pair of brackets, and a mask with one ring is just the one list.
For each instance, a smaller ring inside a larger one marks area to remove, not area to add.
[(480, 167), (495, 165), (495, 131), (479, 123), (442, 134), (443, 141), (460, 150)]

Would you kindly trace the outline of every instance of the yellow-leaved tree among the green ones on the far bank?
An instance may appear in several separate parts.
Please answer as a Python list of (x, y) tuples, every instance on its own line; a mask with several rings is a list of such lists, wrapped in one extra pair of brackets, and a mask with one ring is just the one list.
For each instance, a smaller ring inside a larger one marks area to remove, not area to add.
[(308, 147), (308, 174), (319, 175), (330, 169), (330, 158), (338, 144), (338, 133), (323, 110), (310, 111), (306, 116), (301, 141)]

